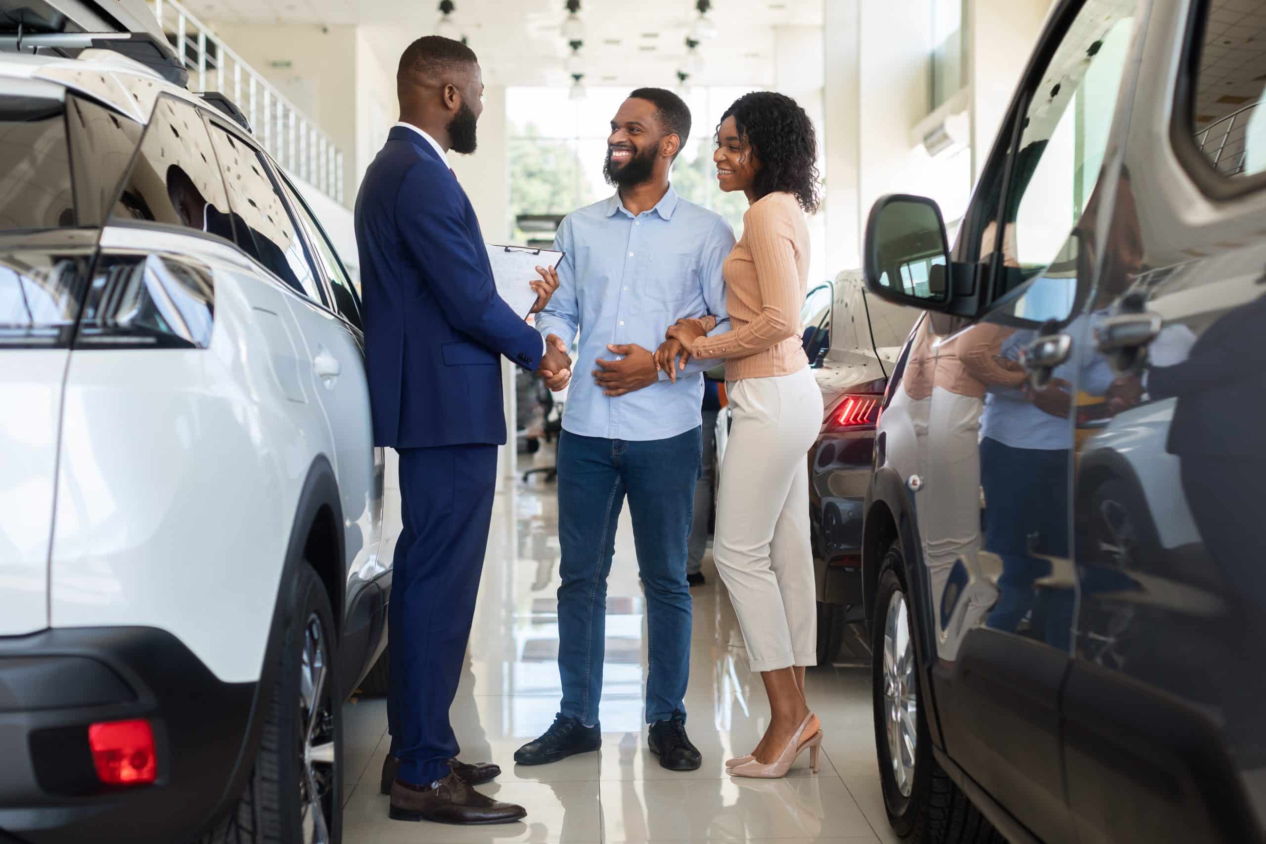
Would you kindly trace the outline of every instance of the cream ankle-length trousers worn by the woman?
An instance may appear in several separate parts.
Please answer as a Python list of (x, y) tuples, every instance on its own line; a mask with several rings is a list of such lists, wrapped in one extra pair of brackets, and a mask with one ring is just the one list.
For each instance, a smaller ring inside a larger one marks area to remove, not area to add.
[(822, 426), (813, 371), (725, 385), (733, 424), (720, 466), (713, 555), (752, 671), (817, 664), (808, 452)]

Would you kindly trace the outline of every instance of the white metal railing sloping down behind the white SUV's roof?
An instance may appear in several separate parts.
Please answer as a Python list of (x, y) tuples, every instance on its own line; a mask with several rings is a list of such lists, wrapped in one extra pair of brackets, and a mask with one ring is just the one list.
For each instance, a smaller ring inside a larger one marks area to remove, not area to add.
[(176, 0), (147, 3), (189, 70), (190, 90), (232, 97), (279, 164), (342, 204), (343, 151), (329, 135)]

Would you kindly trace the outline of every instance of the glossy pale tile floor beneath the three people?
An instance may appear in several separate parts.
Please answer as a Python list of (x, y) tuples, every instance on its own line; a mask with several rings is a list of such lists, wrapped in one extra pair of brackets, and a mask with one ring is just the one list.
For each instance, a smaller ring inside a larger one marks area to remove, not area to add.
[(549, 726), (558, 709), (558, 539), (555, 486), (539, 480), (498, 495), (466, 673), (452, 709), (461, 758), (491, 760), (501, 777), (481, 791), (524, 805), (528, 817), (498, 826), (387, 819), (379, 773), (387, 750), (386, 704), (361, 698), (344, 721), (348, 844), (405, 841), (895, 840), (875, 769), (870, 671), (810, 668), (809, 705), (822, 720), (820, 772), (805, 753), (786, 779), (737, 779), (724, 760), (756, 745), (768, 723), (760, 677), (747, 668), (729, 597), (711, 554), (708, 583), (693, 590), (694, 642), (686, 696), (699, 771), (665, 771), (646, 747), (644, 601), (628, 509), (609, 581), (603, 749), (552, 766), (517, 767), (514, 750)]

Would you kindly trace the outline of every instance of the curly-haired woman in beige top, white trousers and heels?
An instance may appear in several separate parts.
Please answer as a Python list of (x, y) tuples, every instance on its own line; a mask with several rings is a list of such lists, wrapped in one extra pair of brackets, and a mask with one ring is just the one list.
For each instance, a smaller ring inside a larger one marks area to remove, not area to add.
[(717, 130), (717, 180), (751, 204), (723, 267), (732, 329), (706, 337), (713, 318), (681, 320), (657, 352), (670, 377), (679, 356), (725, 359), (733, 426), (714, 557), (771, 710), (756, 749), (727, 763), (742, 777), (781, 777), (804, 749), (817, 771), (822, 744), (804, 693), (804, 667), (817, 652), (805, 454), (822, 425), (822, 392), (800, 344), (815, 158), (813, 123), (795, 100), (760, 91), (729, 106)]

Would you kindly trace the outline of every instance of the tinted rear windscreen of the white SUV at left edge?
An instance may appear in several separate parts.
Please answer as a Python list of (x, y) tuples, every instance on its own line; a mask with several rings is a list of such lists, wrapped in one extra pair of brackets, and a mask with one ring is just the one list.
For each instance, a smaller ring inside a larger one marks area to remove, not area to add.
[(0, 94), (0, 232), (77, 225), (65, 104)]

